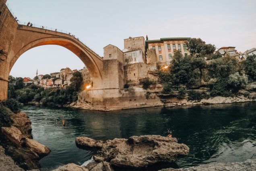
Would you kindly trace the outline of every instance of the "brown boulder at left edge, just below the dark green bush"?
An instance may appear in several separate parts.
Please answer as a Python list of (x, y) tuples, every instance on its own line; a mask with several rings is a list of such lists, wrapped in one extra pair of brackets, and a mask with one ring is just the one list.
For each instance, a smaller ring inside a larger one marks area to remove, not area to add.
[(15, 126), (2, 127), (1, 128), (1, 141), (6, 145), (13, 145), (15, 147), (21, 147), (22, 133)]

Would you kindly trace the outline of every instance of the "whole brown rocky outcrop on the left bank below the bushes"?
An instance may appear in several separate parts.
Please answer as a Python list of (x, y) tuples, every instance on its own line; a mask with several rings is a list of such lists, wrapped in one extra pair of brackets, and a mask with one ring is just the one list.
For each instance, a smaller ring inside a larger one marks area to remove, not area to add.
[[(38, 169), (39, 159), (48, 155), (50, 149), (32, 139), (31, 121), (27, 114), (12, 113), (11, 120), (11, 126), (0, 128), (0, 145), (4, 147), (4, 153), (25, 170)], [(3, 159), (2, 162), (7, 161)]]

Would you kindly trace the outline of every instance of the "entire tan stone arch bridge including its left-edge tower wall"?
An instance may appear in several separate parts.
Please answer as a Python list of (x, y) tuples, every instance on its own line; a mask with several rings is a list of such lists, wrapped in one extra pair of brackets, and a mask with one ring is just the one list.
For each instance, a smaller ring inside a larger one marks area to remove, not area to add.
[(5, 2), (0, 2), (0, 49), (6, 52), (0, 61), (0, 100), (7, 98), (8, 76), (17, 59), (42, 45), (59, 45), (72, 51), (87, 66), (93, 80), (92, 89), (101, 89), (103, 59), (99, 55), (71, 35), (18, 24)]

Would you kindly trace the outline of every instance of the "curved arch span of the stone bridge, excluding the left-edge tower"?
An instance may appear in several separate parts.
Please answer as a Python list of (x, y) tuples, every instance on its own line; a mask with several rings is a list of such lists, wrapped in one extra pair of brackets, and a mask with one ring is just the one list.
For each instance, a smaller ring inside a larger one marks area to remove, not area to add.
[(18, 26), (7, 57), (7, 73), (10, 73), (14, 63), (23, 53), (43, 45), (58, 45), (73, 52), (87, 66), (93, 81), (92, 89), (101, 89), (103, 59), (99, 55), (71, 35), (31, 26)]

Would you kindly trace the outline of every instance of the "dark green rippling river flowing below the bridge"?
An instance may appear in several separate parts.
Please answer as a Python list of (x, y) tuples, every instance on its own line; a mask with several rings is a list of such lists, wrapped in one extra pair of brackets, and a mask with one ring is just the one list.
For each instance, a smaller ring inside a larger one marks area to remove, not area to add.
[(76, 147), (77, 136), (108, 140), (171, 134), (190, 148), (176, 167), (256, 159), (256, 103), (111, 112), (42, 106), (23, 106), (22, 110), (32, 122), (34, 140), (51, 149), (39, 161), (43, 170), (67, 163), (81, 165), (91, 159), (92, 151)]

